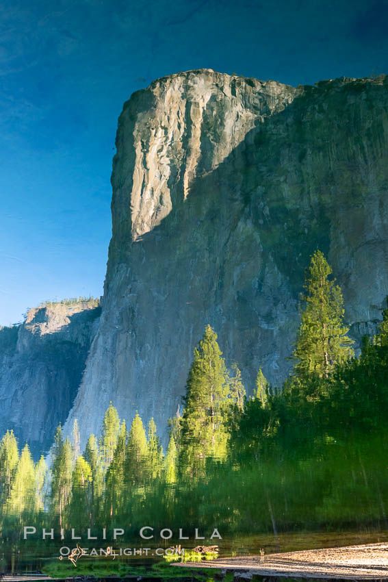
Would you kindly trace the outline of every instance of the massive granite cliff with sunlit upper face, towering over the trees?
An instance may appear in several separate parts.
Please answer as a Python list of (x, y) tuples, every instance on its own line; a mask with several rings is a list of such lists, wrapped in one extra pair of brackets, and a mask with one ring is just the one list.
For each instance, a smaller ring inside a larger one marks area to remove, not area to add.
[(250, 392), (289, 368), (309, 256), (327, 255), (356, 338), (388, 294), (387, 80), (292, 88), (209, 70), (125, 103), (103, 311), (66, 429), (112, 400), (159, 431), (209, 323)]

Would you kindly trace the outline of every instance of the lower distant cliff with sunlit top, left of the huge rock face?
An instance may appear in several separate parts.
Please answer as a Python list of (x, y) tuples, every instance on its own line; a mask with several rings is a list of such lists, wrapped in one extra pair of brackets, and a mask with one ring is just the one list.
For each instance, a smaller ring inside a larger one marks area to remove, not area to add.
[(92, 302), (48, 303), (0, 329), (0, 434), (13, 429), (35, 457), (73, 405), (100, 312)]

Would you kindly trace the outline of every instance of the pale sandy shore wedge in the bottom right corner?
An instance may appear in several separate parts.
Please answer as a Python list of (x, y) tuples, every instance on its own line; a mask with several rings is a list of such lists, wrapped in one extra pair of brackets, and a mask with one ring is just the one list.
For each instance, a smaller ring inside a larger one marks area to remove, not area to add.
[(260, 556), (218, 558), (201, 564), (193, 562), (174, 566), (220, 568), (244, 572), (245, 576), (388, 580), (388, 544), (269, 554), (263, 559)]

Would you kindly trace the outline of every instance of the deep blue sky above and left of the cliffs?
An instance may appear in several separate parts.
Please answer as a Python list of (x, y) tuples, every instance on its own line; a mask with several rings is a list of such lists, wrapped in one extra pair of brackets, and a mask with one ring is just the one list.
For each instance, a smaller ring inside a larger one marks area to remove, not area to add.
[(3, 0), (0, 324), (102, 293), (131, 92), (201, 67), (292, 85), (387, 73), (387, 29), (388, 0)]

